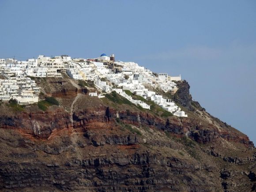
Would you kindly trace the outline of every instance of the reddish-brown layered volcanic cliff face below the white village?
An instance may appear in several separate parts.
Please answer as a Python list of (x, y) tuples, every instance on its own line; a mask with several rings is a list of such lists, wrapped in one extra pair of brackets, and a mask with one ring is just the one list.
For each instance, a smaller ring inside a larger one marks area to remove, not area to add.
[(41, 83), (60, 106), (1, 104), (0, 190), (256, 188), (253, 143), (193, 102), (187, 82), (173, 96), (188, 113), (179, 118), (140, 109), (118, 94), (89, 97), (89, 90), (64, 80)]

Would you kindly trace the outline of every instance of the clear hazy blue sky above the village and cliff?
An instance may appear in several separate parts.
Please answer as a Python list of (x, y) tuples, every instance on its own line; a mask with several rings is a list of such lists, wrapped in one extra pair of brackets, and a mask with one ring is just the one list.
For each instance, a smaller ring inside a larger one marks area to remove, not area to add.
[(101, 53), (181, 74), (256, 143), (255, 0), (0, 0), (0, 58)]

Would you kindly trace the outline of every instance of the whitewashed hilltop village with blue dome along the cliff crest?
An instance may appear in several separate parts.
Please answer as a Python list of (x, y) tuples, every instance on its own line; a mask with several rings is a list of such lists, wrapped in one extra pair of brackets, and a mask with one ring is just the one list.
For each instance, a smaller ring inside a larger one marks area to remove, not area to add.
[(170, 98), (164, 98), (154, 91), (160, 88), (165, 93), (174, 94), (177, 91), (175, 81), (181, 81), (181, 75), (156, 74), (134, 62), (116, 61), (113, 54), (107, 56), (105, 53), (93, 59), (72, 59), (67, 55), (39, 55), (37, 59), (26, 61), (0, 59), (0, 100), (15, 99), (20, 105), (38, 102), (40, 87), (32, 77), (63, 78), (64, 72), (72, 79), (93, 82), (98, 92), (89, 93), (92, 97), (102, 98), (104, 94), (116, 91), (130, 102), (150, 109), (145, 102), (132, 99), (129, 94), (132, 93), (153, 101), (175, 116), (188, 117)]

